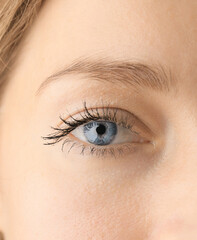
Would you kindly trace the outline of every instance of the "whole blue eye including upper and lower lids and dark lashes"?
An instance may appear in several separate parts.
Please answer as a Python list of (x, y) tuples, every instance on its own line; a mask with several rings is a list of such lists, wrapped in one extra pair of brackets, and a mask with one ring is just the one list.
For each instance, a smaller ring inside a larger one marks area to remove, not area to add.
[(43, 139), (44, 145), (62, 142), (62, 152), (70, 153), (75, 148), (75, 153), (104, 157), (129, 154), (152, 144), (151, 130), (136, 115), (123, 109), (87, 108), (84, 102), (84, 109), (66, 119), (60, 116), (60, 120), (58, 127), (51, 127), (54, 132)]

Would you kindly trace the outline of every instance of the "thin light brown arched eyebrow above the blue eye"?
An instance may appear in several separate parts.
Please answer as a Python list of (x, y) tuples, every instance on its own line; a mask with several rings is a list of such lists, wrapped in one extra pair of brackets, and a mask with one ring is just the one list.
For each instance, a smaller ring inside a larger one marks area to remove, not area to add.
[(39, 95), (51, 83), (69, 74), (85, 74), (89, 79), (126, 84), (135, 89), (149, 88), (163, 93), (175, 89), (176, 85), (171, 70), (161, 64), (147, 64), (109, 57), (79, 57), (62, 70), (47, 77), (38, 88), (36, 95)]

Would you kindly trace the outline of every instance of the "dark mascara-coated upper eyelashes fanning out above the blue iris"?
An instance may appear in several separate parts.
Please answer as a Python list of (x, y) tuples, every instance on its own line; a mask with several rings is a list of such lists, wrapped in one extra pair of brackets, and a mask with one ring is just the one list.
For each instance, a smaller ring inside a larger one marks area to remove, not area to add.
[[(63, 119), (61, 116), (59, 116), (61, 122), (64, 123), (66, 127), (64, 128), (51, 127), (55, 132), (52, 134), (48, 134), (48, 136), (46, 137), (42, 137), (44, 140), (48, 141), (44, 143), (44, 145), (54, 145), (55, 143), (60, 142), (65, 136), (71, 133), (75, 128), (85, 123), (88, 123), (89, 121), (96, 121), (100, 119), (106, 120), (106, 121), (110, 120), (128, 129), (131, 129), (133, 126), (133, 124), (132, 125), (128, 124), (128, 119), (120, 119), (119, 121), (117, 120), (118, 109), (110, 108), (109, 106), (88, 109), (86, 102), (84, 102), (83, 105), (84, 105), (83, 113), (79, 112), (81, 119), (76, 119), (75, 117), (69, 114), (69, 119), (71, 120), (68, 121)], [(102, 115), (99, 113), (99, 110), (102, 110)], [(137, 132), (135, 133), (138, 134)]]

